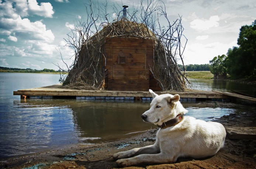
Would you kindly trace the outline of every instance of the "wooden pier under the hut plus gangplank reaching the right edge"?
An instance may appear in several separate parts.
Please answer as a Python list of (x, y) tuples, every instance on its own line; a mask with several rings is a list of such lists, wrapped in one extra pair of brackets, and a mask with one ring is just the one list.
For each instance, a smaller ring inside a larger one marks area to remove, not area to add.
[[(256, 98), (242, 96), (240, 94), (221, 92), (221, 91), (202, 91), (202, 90), (187, 90), (183, 92), (178, 91), (160, 91), (157, 94), (179, 94), (181, 100), (231, 100), (240, 98), (243, 100), (256, 101)], [(111, 100), (133, 100), (135, 98), (151, 98), (148, 91), (108, 91), (108, 90), (73, 90), (62, 88), (61, 84), (55, 84), (46, 87), (37, 87), (32, 89), (23, 89), (14, 91), (13, 95), (20, 95), (24, 98), (56, 98), (56, 97), (70, 97), (76, 99), (111, 99)]]

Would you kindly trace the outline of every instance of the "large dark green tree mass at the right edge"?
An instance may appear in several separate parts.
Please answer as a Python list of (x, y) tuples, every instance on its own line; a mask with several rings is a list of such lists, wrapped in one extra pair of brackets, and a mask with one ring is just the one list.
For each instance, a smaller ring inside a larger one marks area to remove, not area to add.
[(256, 78), (256, 20), (240, 28), (239, 47), (230, 48), (225, 65), (231, 78)]

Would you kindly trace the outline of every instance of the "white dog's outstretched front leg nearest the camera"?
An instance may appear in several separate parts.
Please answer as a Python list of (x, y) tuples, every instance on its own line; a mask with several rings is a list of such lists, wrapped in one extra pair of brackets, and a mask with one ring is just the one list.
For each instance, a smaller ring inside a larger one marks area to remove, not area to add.
[(132, 158), (119, 159), (116, 161), (118, 166), (133, 166), (141, 164), (153, 164), (153, 163), (173, 163), (177, 160), (177, 157), (174, 157), (170, 154), (141, 154)]

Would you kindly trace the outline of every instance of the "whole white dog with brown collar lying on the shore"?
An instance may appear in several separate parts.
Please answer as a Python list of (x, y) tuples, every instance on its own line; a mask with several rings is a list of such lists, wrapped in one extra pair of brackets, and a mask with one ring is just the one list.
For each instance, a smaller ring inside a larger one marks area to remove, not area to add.
[(158, 96), (152, 90), (149, 92), (153, 100), (150, 109), (141, 117), (143, 121), (160, 127), (156, 142), (114, 154), (119, 166), (173, 163), (179, 157), (204, 158), (216, 154), (223, 147), (226, 137), (223, 125), (183, 116), (187, 110), (181, 105), (179, 94)]

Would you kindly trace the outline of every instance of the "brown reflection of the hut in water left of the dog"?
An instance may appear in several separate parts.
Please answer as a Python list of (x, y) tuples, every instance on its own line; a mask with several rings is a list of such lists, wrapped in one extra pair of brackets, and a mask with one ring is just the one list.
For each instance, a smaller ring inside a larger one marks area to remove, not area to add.
[(124, 137), (124, 134), (152, 127), (152, 124), (143, 123), (141, 119), (149, 103), (81, 101), (70, 108), (74, 112), (80, 137), (89, 138), (82, 139), (83, 142), (114, 140)]

